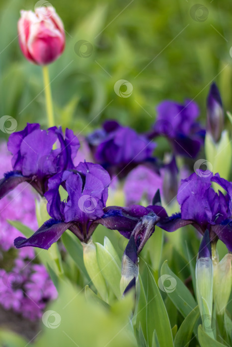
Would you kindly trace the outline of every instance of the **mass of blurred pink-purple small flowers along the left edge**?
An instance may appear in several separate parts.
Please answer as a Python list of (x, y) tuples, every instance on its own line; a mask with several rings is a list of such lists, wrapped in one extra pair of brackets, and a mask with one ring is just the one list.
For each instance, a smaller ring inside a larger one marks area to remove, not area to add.
[[(6, 143), (1, 143), (0, 175), (11, 168), (11, 156)], [(30, 185), (22, 183), (0, 200), (0, 257), (3, 266), (6, 252), (14, 249), (14, 238), (22, 236), (20, 231), (8, 224), (7, 219), (19, 221), (32, 230), (38, 229), (35, 198)], [(33, 247), (14, 249), (13, 259), (10, 257), (11, 270), (0, 269), (0, 305), (28, 319), (38, 319), (47, 302), (57, 297), (57, 290), (44, 265), (33, 263)]]

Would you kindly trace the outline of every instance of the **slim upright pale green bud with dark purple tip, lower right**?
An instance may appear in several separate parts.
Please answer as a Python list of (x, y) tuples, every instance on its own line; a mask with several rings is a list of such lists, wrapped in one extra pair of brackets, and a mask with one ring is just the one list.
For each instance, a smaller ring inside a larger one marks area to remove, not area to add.
[(208, 335), (213, 337), (211, 329), (213, 309), (213, 264), (208, 230), (204, 233), (197, 257), (196, 291), (203, 329)]

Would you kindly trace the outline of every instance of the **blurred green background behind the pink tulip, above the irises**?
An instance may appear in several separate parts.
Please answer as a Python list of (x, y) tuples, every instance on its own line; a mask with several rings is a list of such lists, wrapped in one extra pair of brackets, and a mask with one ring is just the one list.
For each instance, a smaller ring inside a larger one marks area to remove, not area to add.
[[(116, 118), (144, 131), (155, 120), (155, 105), (167, 98), (194, 99), (205, 123), (213, 80), (232, 110), (231, 4), (200, 2), (52, 1), (67, 39), (64, 54), (49, 67), (57, 125), (86, 134)], [(17, 39), (19, 10), (34, 10), (35, 3), (0, 0), (0, 116), (16, 118), (18, 130), (28, 121), (46, 126), (41, 68), (22, 56)], [(114, 91), (120, 79), (133, 86), (128, 98)]]

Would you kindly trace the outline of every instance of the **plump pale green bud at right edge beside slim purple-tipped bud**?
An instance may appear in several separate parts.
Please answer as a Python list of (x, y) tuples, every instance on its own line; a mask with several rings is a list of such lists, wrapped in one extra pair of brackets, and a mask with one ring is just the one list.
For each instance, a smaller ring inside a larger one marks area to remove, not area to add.
[(216, 312), (223, 314), (231, 294), (232, 287), (232, 254), (225, 257), (214, 266), (214, 302)]

